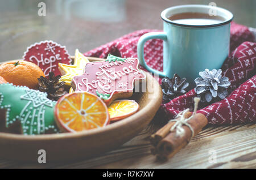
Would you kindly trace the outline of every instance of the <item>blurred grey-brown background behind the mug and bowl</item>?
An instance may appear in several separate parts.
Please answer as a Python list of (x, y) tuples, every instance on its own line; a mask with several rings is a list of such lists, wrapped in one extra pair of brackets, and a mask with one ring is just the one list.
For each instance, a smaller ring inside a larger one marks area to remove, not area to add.
[[(46, 16), (39, 16), (39, 2)], [(162, 29), (160, 12), (185, 4), (216, 3), (234, 21), (256, 27), (255, 0), (0, 0), (0, 62), (22, 58), (27, 46), (42, 40), (88, 52), (139, 29)]]

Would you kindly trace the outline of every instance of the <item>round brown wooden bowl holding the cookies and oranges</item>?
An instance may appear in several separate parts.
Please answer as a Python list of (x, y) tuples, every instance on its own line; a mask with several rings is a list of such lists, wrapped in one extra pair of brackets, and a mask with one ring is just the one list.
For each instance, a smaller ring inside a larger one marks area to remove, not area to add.
[[(90, 61), (102, 61), (89, 58)], [(46, 161), (68, 161), (93, 157), (127, 142), (150, 123), (162, 102), (159, 83), (147, 72), (146, 92), (134, 93), (137, 113), (106, 127), (77, 133), (25, 136), (0, 132), (0, 157), (21, 161), (38, 161), (38, 151), (46, 151)]]

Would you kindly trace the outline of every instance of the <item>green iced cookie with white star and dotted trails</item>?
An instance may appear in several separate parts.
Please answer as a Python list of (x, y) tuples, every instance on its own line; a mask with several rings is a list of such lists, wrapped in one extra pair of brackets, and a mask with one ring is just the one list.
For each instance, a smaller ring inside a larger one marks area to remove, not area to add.
[(0, 120), (10, 132), (24, 135), (59, 132), (53, 116), (56, 102), (47, 94), (13, 84), (0, 84)]

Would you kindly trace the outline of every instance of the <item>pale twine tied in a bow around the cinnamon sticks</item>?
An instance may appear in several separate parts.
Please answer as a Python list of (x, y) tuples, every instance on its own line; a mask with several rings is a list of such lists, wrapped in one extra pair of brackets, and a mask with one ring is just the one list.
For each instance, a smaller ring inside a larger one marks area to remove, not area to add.
[(194, 104), (194, 111), (193, 111), (193, 114), (191, 115), (191, 117), (185, 118), (185, 114), (187, 112), (189, 112), (189, 109), (185, 109), (182, 112), (180, 112), (179, 114), (177, 114), (175, 119), (171, 119), (169, 121), (169, 122), (176, 122), (174, 124), (174, 126), (172, 126), (170, 128), (170, 131), (172, 132), (172, 131), (174, 131), (176, 129), (176, 135), (177, 136), (183, 136), (184, 135), (185, 130), (182, 127), (183, 125), (189, 127), (189, 129), (191, 130), (191, 132), (192, 132), (191, 138), (194, 136), (195, 132), (194, 132), (193, 128), (191, 127), (191, 125), (189, 125), (188, 121), (190, 119), (192, 119), (194, 117), (194, 115), (196, 114), (196, 110), (198, 108), (198, 104), (199, 104), (200, 98), (199, 97), (195, 97), (193, 100), (194, 100), (195, 104)]

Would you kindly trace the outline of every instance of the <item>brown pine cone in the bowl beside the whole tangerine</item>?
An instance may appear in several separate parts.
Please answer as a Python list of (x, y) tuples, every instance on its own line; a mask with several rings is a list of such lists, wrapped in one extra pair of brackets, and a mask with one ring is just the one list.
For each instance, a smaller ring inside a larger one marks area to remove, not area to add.
[(61, 96), (67, 94), (64, 91), (65, 82), (59, 82), (60, 77), (60, 75), (55, 77), (53, 72), (49, 72), (49, 79), (41, 76), (38, 78), (39, 91), (46, 92), (49, 99), (57, 101)]

